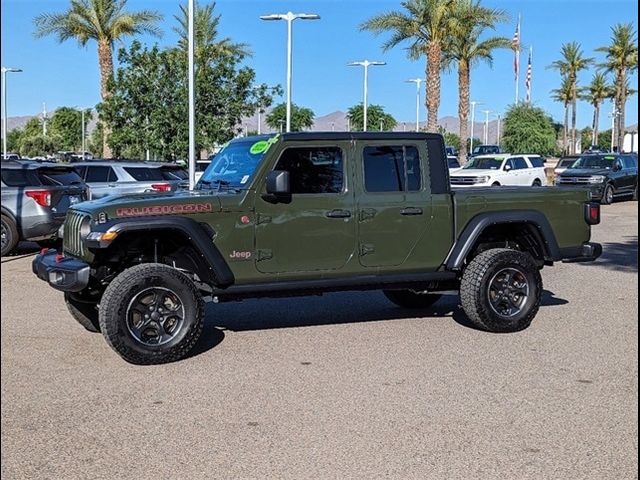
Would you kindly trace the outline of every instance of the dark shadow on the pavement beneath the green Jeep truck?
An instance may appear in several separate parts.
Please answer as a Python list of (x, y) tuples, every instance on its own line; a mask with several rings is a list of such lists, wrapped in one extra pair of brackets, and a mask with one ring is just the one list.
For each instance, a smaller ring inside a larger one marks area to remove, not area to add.
[[(569, 303), (544, 290), (542, 306)], [(192, 355), (214, 348), (224, 339), (224, 331), (243, 332), (277, 328), (314, 327), (342, 323), (450, 317), (464, 327), (475, 329), (459, 304), (457, 295), (443, 295), (427, 309), (400, 308), (380, 292), (333, 293), (324, 297), (245, 300), (242, 303), (208, 304), (205, 331)]]

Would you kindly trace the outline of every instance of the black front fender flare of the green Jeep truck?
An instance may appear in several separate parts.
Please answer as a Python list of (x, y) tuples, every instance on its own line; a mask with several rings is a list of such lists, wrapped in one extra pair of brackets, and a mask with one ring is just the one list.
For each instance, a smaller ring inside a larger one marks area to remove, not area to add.
[[(186, 235), (191, 245), (207, 262), (211, 279), (218, 288), (226, 288), (235, 283), (233, 272), (224, 257), (213, 243), (215, 232), (206, 223), (199, 223), (189, 217), (133, 217), (119, 218), (97, 224), (92, 228), (94, 232), (116, 232), (118, 236), (125, 232), (149, 232), (173, 230)], [(116, 237), (117, 239), (117, 237)], [(87, 242), (89, 248), (107, 248), (112, 242)]]

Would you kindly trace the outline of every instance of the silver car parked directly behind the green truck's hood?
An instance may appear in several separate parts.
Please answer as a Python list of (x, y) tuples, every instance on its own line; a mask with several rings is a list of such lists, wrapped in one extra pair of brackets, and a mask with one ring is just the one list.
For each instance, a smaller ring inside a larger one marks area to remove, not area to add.
[(188, 184), (179, 165), (134, 161), (91, 161), (72, 164), (89, 186), (91, 198), (145, 192), (171, 192)]

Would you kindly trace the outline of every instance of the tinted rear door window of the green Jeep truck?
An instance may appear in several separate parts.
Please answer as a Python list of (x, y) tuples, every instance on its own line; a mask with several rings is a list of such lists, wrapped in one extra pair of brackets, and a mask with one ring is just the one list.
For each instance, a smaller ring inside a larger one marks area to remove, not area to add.
[(416, 147), (365, 147), (363, 157), (364, 186), (367, 192), (420, 190), (420, 154)]

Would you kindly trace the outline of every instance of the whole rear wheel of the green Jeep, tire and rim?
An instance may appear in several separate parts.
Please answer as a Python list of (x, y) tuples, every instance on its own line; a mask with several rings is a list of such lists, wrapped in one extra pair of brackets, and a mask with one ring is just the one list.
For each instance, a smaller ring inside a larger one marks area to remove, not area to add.
[(506, 248), (486, 250), (467, 266), (460, 302), (469, 320), (490, 332), (527, 328), (540, 308), (542, 277), (528, 253)]

